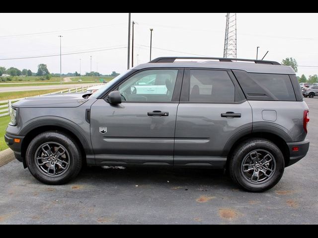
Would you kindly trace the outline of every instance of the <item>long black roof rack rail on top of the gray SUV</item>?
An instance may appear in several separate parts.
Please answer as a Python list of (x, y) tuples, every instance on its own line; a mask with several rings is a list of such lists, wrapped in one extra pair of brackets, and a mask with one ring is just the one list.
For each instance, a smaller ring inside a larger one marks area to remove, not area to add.
[(159, 57), (154, 60), (149, 61), (149, 63), (173, 63), (174, 60), (220, 60), (223, 62), (233, 62), (233, 60), (239, 61), (251, 61), (255, 63), (265, 63), (265, 64), (276, 64), (281, 65), (276, 61), (268, 61), (268, 60), (246, 60), (246, 59), (232, 59), (232, 58), (212, 58), (212, 57)]

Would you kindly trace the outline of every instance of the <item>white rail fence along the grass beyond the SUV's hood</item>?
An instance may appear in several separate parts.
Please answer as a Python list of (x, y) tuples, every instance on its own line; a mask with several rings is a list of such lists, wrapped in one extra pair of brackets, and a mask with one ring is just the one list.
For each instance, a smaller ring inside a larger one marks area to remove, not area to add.
[[(46, 93), (46, 94), (35, 95), (35, 96), (30, 96), (30, 97), (25, 97), (25, 98), (45, 96), (45, 95), (51, 95), (51, 94), (57, 94), (57, 93), (81, 93), (81, 92), (85, 92), (88, 87), (96, 86), (96, 85), (99, 85), (99, 84), (85, 86), (85, 87), (81, 86), (81, 87), (77, 87), (77, 88), (69, 88), (69, 89), (65, 89), (62, 91), (60, 90), (60, 91), (53, 92), (53, 93)], [(12, 103), (15, 103), (15, 102), (22, 100), (22, 99), (25, 99), (25, 98), (15, 98), (15, 99), (0, 101), (0, 104), (1, 104), (0, 105), (0, 117), (9, 115), (9, 108), (11, 107)]]

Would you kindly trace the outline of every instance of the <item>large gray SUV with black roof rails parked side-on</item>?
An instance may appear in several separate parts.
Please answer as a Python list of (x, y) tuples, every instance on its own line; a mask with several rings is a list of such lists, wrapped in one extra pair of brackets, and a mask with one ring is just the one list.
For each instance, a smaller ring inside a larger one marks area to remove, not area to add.
[(10, 115), (6, 143), (47, 184), (84, 164), (174, 166), (225, 169), (264, 191), (309, 148), (295, 71), (274, 61), (157, 58), (93, 94), (24, 99)]

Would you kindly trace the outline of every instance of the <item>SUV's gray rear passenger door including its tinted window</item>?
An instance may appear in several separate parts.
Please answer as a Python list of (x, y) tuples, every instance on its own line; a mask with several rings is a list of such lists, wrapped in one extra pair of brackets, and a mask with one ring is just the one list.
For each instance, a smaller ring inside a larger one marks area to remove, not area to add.
[(251, 107), (232, 71), (185, 69), (176, 119), (175, 165), (223, 167), (231, 139), (251, 131)]

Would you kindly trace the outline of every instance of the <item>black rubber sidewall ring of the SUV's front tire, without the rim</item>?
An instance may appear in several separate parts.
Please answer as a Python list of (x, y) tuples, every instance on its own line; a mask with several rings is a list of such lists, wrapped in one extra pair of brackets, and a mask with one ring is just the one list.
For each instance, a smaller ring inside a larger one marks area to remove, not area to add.
[[(41, 173), (35, 164), (35, 152), (40, 145), (46, 142), (57, 142), (65, 147), (70, 155), (70, 166), (67, 172), (58, 177), (48, 177)], [(81, 167), (81, 155), (77, 145), (66, 135), (58, 132), (44, 132), (37, 135), (29, 144), (26, 151), (26, 164), (30, 173), (41, 182), (47, 184), (62, 184), (75, 177)]]

